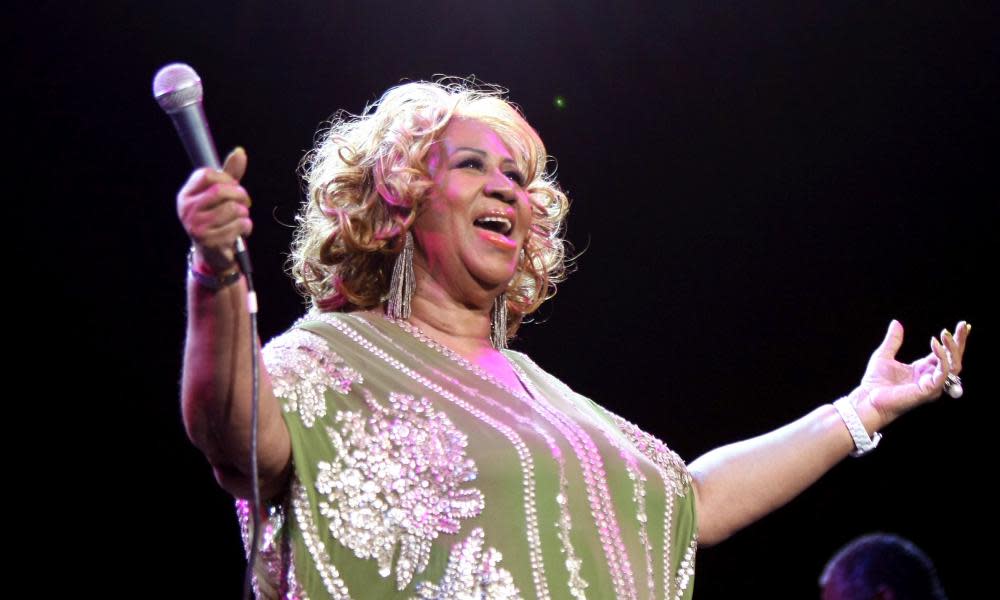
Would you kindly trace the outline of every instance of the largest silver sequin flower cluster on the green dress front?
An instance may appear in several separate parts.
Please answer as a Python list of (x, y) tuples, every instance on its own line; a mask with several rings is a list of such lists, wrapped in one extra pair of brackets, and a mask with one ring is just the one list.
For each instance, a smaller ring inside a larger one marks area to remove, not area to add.
[(373, 558), (404, 589), (427, 567), (438, 535), (456, 534), (461, 520), (484, 507), (483, 494), (463, 485), (476, 478), (468, 440), (427, 398), (390, 394), (383, 406), (365, 391), (371, 416), (341, 411), (328, 427), (337, 460), (320, 462), (319, 511), (333, 537), (358, 558)]

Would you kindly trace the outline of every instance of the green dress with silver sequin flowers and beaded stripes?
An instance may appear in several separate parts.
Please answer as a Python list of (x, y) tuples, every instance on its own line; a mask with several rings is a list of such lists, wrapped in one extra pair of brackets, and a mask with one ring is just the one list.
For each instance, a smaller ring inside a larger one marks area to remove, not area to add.
[(295, 469), (267, 507), (258, 596), (689, 598), (684, 463), (505, 353), (522, 389), (370, 315), (313, 313), (271, 341)]

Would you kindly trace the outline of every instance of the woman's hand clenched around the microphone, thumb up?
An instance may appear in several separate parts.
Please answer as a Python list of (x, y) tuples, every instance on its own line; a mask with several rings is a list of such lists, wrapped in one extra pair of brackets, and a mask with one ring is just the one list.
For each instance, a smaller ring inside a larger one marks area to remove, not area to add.
[(247, 155), (236, 148), (221, 171), (198, 169), (177, 192), (177, 216), (194, 244), (195, 268), (225, 273), (236, 266), (236, 238), (250, 235), (250, 196), (240, 185)]

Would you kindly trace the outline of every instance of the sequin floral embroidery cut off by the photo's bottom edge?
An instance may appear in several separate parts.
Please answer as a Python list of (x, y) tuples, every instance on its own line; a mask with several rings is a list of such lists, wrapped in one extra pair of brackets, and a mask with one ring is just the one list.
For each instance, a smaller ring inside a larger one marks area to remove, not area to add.
[(503, 555), (496, 548), (483, 549), (483, 530), (472, 530), (469, 537), (451, 548), (448, 566), (441, 580), (417, 584), (415, 600), (514, 600), (521, 593), (514, 578), (500, 567)]

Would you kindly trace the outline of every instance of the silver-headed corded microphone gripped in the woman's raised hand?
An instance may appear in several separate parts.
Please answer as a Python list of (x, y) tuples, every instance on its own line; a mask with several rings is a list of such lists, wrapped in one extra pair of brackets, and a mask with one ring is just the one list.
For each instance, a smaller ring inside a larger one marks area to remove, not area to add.
[[(212, 133), (208, 130), (202, 96), (201, 78), (184, 63), (169, 64), (153, 77), (153, 97), (174, 122), (191, 163), (196, 168), (221, 169), (222, 163), (215, 151)], [(236, 238), (236, 260), (249, 279), (252, 267), (243, 236)]]

